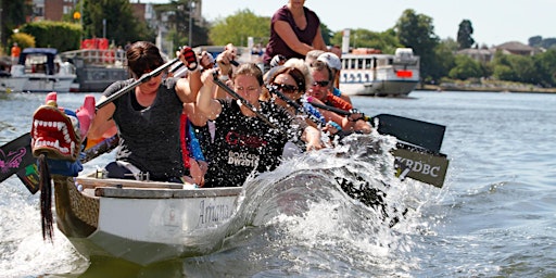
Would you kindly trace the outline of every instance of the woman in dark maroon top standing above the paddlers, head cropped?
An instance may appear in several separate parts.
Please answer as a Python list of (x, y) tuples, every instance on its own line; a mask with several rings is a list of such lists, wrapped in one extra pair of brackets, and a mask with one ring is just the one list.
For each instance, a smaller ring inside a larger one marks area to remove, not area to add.
[(320, 20), (304, 5), (305, 0), (289, 0), (273, 15), (270, 39), (263, 56), (265, 72), (270, 68), (275, 55), (305, 59), (313, 49), (327, 50), (320, 34)]

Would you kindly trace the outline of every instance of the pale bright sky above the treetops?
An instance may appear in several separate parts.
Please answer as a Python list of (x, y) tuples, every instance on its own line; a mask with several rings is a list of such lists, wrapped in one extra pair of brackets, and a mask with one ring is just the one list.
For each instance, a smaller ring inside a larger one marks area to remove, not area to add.
[[(135, 2), (137, 0), (131, 0)], [(168, 0), (141, 0), (167, 3)], [(288, 0), (203, 0), (207, 21), (224, 18), (249, 9), (260, 16), (271, 16)], [(530, 37), (556, 38), (556, 0), (306, 0), (320, 21), (333, 31), (364, 28), (384, 31), (395, 25), (406, 9), (432, 18), (434, 34), (456, 39), (459, 23), (469, 20), (471, 35), (480, 46), (507, 41), (528, 43)]]

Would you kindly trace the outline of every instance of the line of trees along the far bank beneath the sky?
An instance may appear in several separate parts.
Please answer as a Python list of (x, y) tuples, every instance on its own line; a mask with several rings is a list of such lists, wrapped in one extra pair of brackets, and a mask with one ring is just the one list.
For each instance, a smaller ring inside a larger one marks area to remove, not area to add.
[[(7, 49), (12, 37), (11, 30), (23, 26), (25, 18), (25, 0), (2, 1), (2, 23), (0, 42)], [(154, 41), (156, 29), (160, 26), (149, 26), (147, 22), (132, 15), (132, 8), (128, 0), (79, 0), (83, 3), (81, 38), (106, 37), (115, 45), (125, 45), (128, 41)], [(172, 0), (166, 4), (154, 4), (160, 16), (167, 17), (166, 28), (174, 46), (203, 45), (247, 46), (249, 37), (255, 43), (265, 46), (270, 34), (270, 17), (258, 16), (251, 10), (239, 10), (235, 14), (206, 23), (192, 21), (193, 38), (189, 38), (190, 0)], [(7, 16), (4, 16), (7, 15)], [(77, 24), (68, 14), (64, 21)], [(321, 31), (325, 42), (329, 46), (341, 45), (342, 30), (331, 30), (321, 18)], [(533, 84), (542, 87), (556, 86), (556, 39), (531, 37), (529, 45), (542, 47), (546, 51), (532, 56), (508, 55), (495, 53), (492, 61), (476, 61), (467, 55), (456, 54), (457, 50), (479, 46), (472, 38), (472, 23), (463, 20), (457, 29), (456, 40), (440, 39), (434, 33), (432, 17), (418, 14), (412, 9), (405, 10), (394, 26), (384, 31), (368, 29), (352, 29), (350, 46), (354, 48), (375, 48), (383, 53), (394, 53), (399, 47), (408, 47), (420, 56), (421, 81), (424, 84), (440, 84), (451, 79), (496, 79)], [(56, 36), (50, 37), (56, 40)], [(191, 40), (191, 41), (190, 41)], [(48, 43), (48, 42), (41, 42)], [(78, 43), (78, 42), (77, 42)], [(50, 43), (52, 45), (52, 43)], [(65, 43), (67, 46), (67, 43)], [(77, 45), (78, 46), (78, 45)], [(41, 46), (38, 46), (41, 47)], [(485, 46), (481, 47), (482, 49)]]

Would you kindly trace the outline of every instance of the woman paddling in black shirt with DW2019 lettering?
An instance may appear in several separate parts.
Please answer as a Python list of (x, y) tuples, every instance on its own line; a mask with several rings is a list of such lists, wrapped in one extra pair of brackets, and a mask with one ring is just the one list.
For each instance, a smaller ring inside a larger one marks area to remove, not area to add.
[(273, 170), (280, 163), (283, 146), (291, 138), (302, 138), (308, 150), (321, 148), (317, 129), (296, 126), (283, 109), (258, 101), (263, 73), (257, 65), (240, 65), (232, 81), (233, 90), (264, 118), (239, 100), (215, 99), (212, 73), (203, 73), (202, 78), (204, 86), (199, 91), (197, 106), (206, 121), (214, 121), (216, 126), (214, 142), (206, 153), (205, 187), (241, 186), (252, 173)]

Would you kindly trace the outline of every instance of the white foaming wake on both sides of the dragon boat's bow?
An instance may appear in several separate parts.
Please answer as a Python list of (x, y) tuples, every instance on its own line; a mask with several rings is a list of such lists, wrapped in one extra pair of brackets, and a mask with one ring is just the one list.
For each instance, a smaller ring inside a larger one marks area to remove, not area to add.
[[(205, 256), (179, 258), (185, 275), (356, 276), (372, 269), (374, 275), (404, 276), (418, 267), (419, 260), (410, 254), (416, 245), (412, 236), (430, 232), (420, 214), (434, 189), (394, 177), (389, 150), (395, 138), (375, 134), (344, 140), (340, 147), (287, 160), (276, 170), (249, 179), (222, 248)], [(341, 185), (356, 190), (346, 193)], [(367, 188), (380, 194), (380, 205), (359, 201), (359, 191)], [(36, 198), (22, 200), (28, 192), (12, 193), (14, 199), (1, 203), (7, 212), (0, 216), (4, 274), (83, 268), (87, 261), (58, 229), (53, 244), (42, 242)], [(395, 218), (397, 224), (390, 228)], [(14, 225), (5, 225), (10, 222)]]

